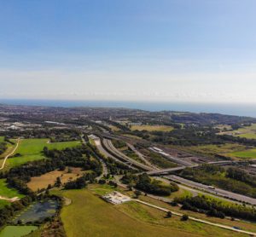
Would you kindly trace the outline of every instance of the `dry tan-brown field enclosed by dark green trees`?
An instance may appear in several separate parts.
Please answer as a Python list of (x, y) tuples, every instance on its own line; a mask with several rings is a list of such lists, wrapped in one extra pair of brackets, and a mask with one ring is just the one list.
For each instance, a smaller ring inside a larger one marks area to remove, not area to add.
[(70, 179), (77, 179), (82, 173), (83, 171), (80, 168), (72, 168), (72, 173), (68, 173), (67, 169), (66, 171), (51, 171), (43, 176), (32, 177), (31, 181), (27, 183), (27, 186), (32, 191), (37, 191), (38, 188), (47, 188), (49, 184), (54, 185), (57, 177), (61, 177), (62, 184), (65, 184)]

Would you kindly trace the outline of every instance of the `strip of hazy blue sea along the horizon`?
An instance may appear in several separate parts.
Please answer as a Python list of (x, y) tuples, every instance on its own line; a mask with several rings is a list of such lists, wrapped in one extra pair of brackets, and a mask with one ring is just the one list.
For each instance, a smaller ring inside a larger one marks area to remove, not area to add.
[(149, 102), (149, 101), (56, 101), (56, 100), (7, 100), (0, 103), (9, 105), (45, 106), (45, 107), (125, 107), (155, 111), (178, 111), (194, 113), (223, 113), (256, 118), (254, 104), (225, 103), (184, 103), (184, 102)]

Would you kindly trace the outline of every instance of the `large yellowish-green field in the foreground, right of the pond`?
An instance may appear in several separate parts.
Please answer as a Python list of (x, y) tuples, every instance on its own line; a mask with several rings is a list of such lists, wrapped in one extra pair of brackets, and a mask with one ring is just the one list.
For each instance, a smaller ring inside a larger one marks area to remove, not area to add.
[(61, 191), (61, 195), (72, 199), (72, 204), (61, 211), (61, 220), (70, 237), (243, 236), (194, 221), (182, 222), (179, 217), (166, 218), (166, 213), (134, 202), (111, 205), (88, 189)]

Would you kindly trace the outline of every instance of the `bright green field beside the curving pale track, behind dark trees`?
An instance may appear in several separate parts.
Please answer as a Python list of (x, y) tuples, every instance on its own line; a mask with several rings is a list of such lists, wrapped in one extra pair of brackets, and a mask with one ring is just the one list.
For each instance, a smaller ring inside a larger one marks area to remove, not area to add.
[[(28, 161), (44, 159), (44, 154), (41, 153), (44, 147), (61, 150), (66, 147), (76, 147), (81, 144), (79, 141), (54, 143), (48, 143), (48, 141), (48, 139), (22, 139), (20, 141), (19, 147), (15, 152), (15, 154), (20, 153), (21, 156), (9, 158), (6, 162), (4, 171), (7, 171), (10, 168), (18, 165), (23, 165)], [(0, 165), (2, 165), (2, 162)]]

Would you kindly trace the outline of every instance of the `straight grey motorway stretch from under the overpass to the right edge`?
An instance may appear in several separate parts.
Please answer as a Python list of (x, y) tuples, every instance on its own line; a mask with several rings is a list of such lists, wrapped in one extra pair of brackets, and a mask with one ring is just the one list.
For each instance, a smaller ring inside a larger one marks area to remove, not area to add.
[(220, 188), (209, 188), (209, 186), (205, 184), (201, 184), (200, 182), (194, 182), (180, 176), (164, 176), (164, 177), (168, 180), (182, 183), (186, 186), (189, 186), (190, 188), (197, 188), (197, 189), (206, 191), (207, 193), (214, 194), (220, 197), (224, 197), (227, 199), (232, 199), (240, 202), (246, 202), (247, 204), (250, 204), (250, 205), (256, 205), (256, 199), (253, 199), (241, 194), (235, 194)]

